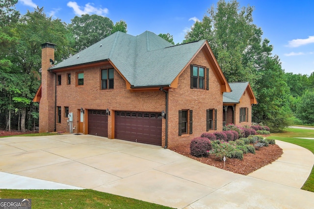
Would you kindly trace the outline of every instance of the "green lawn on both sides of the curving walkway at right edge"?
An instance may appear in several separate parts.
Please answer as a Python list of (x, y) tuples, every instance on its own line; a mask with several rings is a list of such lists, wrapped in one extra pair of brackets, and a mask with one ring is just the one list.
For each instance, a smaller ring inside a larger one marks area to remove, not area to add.
[[(314, 140), (312, 139), (296, 139), (298, 137), (314, 138), (314, 130), (309, 129), (298, 129), (298, 128), (287, 128), (284, 133), (271, 134), (272, 139), (286, 141), (299, 146), (302, 146), (310, 150), (314, 154)], [(302, 189), (314, 192), (314, 167), (308, 178), (308, 180), (302, 186)]]

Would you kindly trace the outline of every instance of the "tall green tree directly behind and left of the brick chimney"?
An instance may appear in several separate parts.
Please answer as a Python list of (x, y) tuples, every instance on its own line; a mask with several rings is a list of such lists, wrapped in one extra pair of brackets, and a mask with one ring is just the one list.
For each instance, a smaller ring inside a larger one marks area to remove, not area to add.
[[(54, 43), (58, 46), (56, 60), (67, 58), (71, 53), (68, 48), (68, 31), (65, 23), (59, 19), (52, 20), (37, 7), (33, 12), (27, 12), (15, 29), (14, 35), (18, 42), (9, 49), (7, 58), (11, 61), (10, 74), (7, 77), (8, 104), (21, 113), (21, 130), (26, 130), (26, 111), (32, 108), (32, 98), (40, 84), (41, 44)], [(29, 114), (30, 115), (30, 114)]]

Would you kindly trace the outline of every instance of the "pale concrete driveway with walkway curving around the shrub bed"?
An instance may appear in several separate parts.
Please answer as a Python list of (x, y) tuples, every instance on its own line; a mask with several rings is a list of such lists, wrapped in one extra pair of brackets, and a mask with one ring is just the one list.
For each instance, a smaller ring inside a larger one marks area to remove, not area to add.
[(300, 187), (314, 155), (277, 144), (284, 149), (281, 158), (243, 176), (159, 146), (118, 139), (0, 138), (0, 188), (90, 188), (179, 209), (313, 208), (314, 193)]

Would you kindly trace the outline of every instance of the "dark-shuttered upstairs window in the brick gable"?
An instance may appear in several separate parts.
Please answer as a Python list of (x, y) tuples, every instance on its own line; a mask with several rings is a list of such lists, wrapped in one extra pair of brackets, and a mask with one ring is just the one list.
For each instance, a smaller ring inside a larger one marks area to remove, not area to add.
[(205, 89), (205, 86), (206, 90), (209, 90), (209, 69), (201, 66), (191, 65), (191, 89)]

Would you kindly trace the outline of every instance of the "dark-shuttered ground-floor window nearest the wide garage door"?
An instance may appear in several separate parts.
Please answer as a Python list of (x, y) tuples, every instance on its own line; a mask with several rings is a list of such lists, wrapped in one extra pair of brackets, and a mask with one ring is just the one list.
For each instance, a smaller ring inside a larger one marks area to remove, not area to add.
[(192, 110), (179, 110), (179, 136), (192, 134)]

